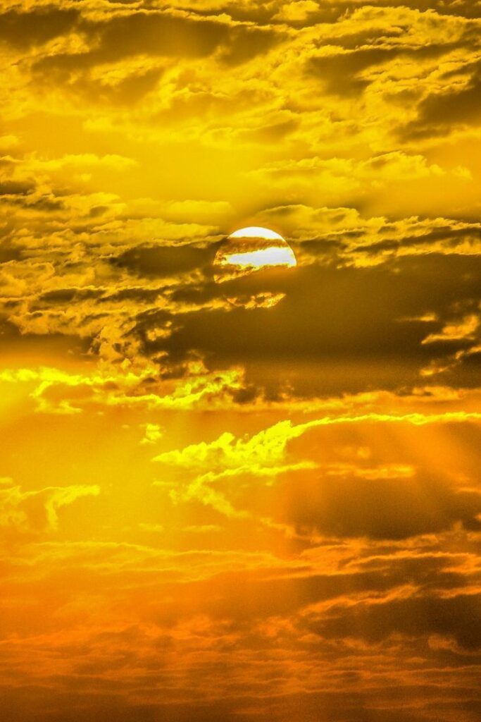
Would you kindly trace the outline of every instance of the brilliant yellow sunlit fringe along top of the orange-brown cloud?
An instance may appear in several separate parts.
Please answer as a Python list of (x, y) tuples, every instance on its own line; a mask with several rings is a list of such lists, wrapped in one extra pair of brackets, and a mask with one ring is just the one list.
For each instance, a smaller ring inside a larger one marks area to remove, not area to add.
[[(379, 466), (359, 466), (358, 464), (336, 462), (323, 465), (322, 461), (311, 458), (293, 460), (285, 463), (288, 454), (288, 443), (307, 432), (319, 427), (332, 425), (366, 425), (391, 424), (425, 426), (445, 423), (481, 422), (479, 412), (446, 412), (442, 414), (378, 414), (369, 413), (359, 416), (323, 417), (309, 422), (294, 425), (291, 421), (281, 421), (258, 432), (250, 438), (235, 438), (230, 432), (224, 432), (210, 443), (200, 442), (182, 449), (164, 451), (155, 456), (153, 461), (164, 466), (178, 467), (186, 474), (194, 474), (169, 482), (154, 482), (154, 486), (169, 491), (170, 499), (178, 504), (197, 500), (210, 506), (229, 519), (253, 518), (249, 510), (238, 508), (222, 488), (219, 482), (229, 482), (236, 477), (268, 479), (272, 484), (282, 474), (298, 471), (325, 469), (327, 476), (343, 477), (352, 474), (359, 479), (376, 481), (379, 479), (410, 479), (415, 474), (415, 467), (410, 464), (387, 464)], [(203, 469), (209, 469), (204, 471)], [(199, 473), (200, 472), (200, 473)], [(203, 473), (202, 473), (203, 472)], [(272, 519), (257, 519), (266, 526), (275, 524)]]

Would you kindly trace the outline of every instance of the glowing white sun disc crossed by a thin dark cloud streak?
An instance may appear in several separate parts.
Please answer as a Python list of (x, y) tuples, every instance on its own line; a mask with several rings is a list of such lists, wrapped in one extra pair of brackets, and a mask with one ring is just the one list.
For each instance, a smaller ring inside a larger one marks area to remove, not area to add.
[(269, 228), (249, 226), (231, 233), (216, 253), (216, 281), (224, 282), (278, 266), (297, 265), (291, 246)]

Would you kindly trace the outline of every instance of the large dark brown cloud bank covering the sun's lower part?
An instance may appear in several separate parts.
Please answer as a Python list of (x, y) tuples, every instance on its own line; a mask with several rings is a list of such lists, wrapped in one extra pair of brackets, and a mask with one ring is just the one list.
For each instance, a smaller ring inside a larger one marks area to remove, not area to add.
[[(191, 256), (187, 258), (190, 263)], [(256, 365), (266, 363), (271, 380), (278, 368), (279, 377), (286, 380), (287, 373), (298, 391), (309, 383), (327, 392), (378, 384), (399, 388), (418, 383), (420, 369), (431, 360), (473, 343), (446, 339), (422, 344), (428, 334), (440, 332), (446, 320), (462, 318), (467, 308), (475, 308), (480, 280), (477, 258), (434, 254), (371, 269), (306, 266), (281, 273), (263, 271), (220, 287), (208, 284), (179, 291), (177, 297), (200, 301), (223, 292), (226, 297), (241, 298), (285, 292), (275, 308), (228, 305), (172, 316), (171, 336), (145, 341), (145, 349), (167, 351), (173, 362), (199, 352), (213, 367), (241, 362), (252, 372)], [(438, 321), (415, 320), (425, 313), (436, 314)], [(138, 334), (144, 336), (150, 325), (167, 318), (162, 312), (139, 320)], [(327, 369), (317, 379), (307, 380), (305, 369), (299, 370), (299, 364), (305, 363)], [(352, 375), (342, 373), (346, 368)], [(337, 378), (333, 378), (336, 369)], [(334, 388), (329, 388), (332, 383)]]

